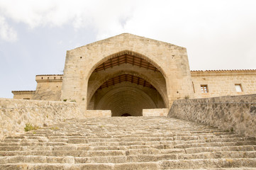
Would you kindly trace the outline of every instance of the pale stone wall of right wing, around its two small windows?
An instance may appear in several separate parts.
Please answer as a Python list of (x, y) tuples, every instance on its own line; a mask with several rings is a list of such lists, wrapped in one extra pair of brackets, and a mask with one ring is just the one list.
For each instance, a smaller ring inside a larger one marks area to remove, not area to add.
[[(191, 71), (195, 98), (256, 94), (256, 70)], [(241, 92), (235, 84), (240, 84)], [(208, 86), (208, 93), (201, 93), (201, 85)]]

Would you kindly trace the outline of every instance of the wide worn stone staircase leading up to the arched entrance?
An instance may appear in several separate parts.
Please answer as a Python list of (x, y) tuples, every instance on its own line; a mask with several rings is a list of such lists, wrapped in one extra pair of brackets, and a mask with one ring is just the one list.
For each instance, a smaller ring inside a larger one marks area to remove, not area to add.
[(256, 169), (256, 140), (174, 118), (72, 119), (6, 137), (0, 169)]

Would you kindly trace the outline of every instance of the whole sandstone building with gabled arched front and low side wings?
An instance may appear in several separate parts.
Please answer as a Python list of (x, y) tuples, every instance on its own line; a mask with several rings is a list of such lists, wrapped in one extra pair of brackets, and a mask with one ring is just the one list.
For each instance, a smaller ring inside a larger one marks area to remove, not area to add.
[(143, 115), (182, 98), (256, 93), (256, 70), (191, 71), (187, 50), (123, 33), (67, 51), (64, 74), (37, 75), (13, 98), (69, 101), (82, 111)]

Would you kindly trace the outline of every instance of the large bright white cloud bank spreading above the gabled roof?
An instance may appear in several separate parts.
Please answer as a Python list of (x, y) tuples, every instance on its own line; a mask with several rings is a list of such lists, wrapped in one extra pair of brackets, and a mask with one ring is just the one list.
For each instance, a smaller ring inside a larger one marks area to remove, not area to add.
[[(187, 47), (192, 69), (241, 69), (230, 61), (255, 58), (255, 8), (254, 0), (0, 0), (0, 15), (32, 29), (71, 24), (93, 28), (97, 40), (126, 32)], [(1, 22), (15, 40), (15, 30)]]

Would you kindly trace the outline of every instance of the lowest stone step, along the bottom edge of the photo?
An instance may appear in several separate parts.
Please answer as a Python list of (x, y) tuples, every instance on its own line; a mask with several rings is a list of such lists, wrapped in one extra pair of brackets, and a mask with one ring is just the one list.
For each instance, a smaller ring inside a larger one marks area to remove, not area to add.
[(256, 167), (256, 159), (191, 159), (159, 162), (130, 162), (121, 164), (1, 164), (1, 169), (219, 169), (220, 167)]

